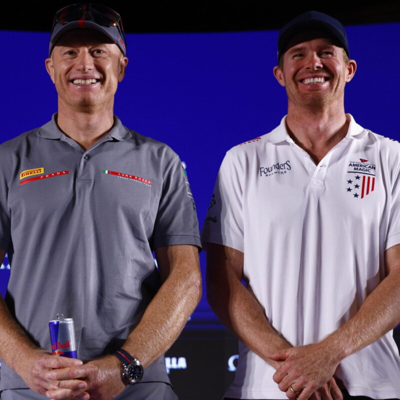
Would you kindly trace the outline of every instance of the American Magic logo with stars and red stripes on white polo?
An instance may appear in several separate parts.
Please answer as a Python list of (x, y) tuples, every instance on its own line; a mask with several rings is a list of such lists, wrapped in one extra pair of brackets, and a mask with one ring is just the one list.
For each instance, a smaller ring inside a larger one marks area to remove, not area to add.
[(353, 198), (364, 198), (375, 189), (375, 164), (367, 159), (359, 158), (359, 161), (348, 163), (346, 191)]

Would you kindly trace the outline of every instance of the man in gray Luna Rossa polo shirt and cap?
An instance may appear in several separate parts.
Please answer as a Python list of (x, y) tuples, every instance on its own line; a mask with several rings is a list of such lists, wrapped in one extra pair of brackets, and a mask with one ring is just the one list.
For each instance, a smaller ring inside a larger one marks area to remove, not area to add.
[[(113, 116), (127, 64), (113, 10), (58, 11), (45, 62), (58, 113), (0, 145), (1, 396), (175, 399), (162, 354), (200, 296), (184, 169)], [(79, 359), (45, 350), (57, 313), (74, 319)]]

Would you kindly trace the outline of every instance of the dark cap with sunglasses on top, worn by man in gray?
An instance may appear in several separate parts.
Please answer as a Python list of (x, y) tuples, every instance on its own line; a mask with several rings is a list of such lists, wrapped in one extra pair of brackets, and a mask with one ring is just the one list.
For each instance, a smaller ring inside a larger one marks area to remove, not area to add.
[(120, 15), (105, 5), (85, 3), (67, 5), (55, 13), (48, 56), (63, 34), (80, 28), (93, 29), (105, 34), (125, 55), (126, 37)]

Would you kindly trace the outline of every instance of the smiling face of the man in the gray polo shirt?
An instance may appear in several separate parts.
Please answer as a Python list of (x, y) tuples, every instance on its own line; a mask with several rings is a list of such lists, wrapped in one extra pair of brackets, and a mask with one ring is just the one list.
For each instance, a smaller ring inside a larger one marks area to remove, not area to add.
[(58, 40), (45, 64), (58, 93), (58, 111), (94, 112), (112, 110), (127, 58), (102, 33), (76, 29)]

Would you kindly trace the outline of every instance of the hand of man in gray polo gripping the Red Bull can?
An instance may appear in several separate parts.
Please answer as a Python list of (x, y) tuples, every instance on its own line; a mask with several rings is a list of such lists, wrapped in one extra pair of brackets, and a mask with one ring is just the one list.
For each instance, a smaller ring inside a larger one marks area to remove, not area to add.
[(64, 397), (79, 397), (86, 388), (86, 382), (79, 379), (58, 380), (48, 376), (53, 368), (70, 369), (82, 365), (82, 361), (76, 358), (60, 357), (52, 355), (49, 351), (42, 349), (30, 349), (25, 352), (20, 360), (15, 362), (15, 370), (19, 376), (32, 390), (46, 394), (49, 389), (63, 390)]

